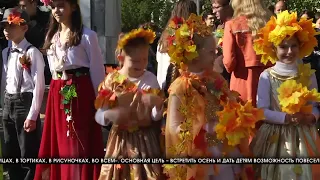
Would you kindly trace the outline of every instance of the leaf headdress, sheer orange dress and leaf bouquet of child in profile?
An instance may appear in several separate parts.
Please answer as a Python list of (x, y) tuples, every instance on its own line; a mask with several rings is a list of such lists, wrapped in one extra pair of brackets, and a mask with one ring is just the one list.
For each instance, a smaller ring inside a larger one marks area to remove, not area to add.
[[(246, 148), (238, 148), (250, 134), (251, 128), (245, 128), (244, 122), (252, 120), (247, 125), (254, 127), (263, 112), (250, 106), (250, 102), (245, 106), (238, 103), (239, 94), (229, 90), (220, 74), (213, 71), (191, 73), (187, 69), (188, 62), (198, 57), (192, 37), (211, 36), (212, 31), (205, 26), (201, 17), (192, 14), (187, 20), (174, 18), (168, 32), (168, 54), (171, 62), (180, 69), (180, 77), (169, 88), (165, 128), (166, 158), (248, 155), (248, 152), (242, 152)], [(227, 105), (234, 106), (242, 118), (235, 111), (224, 108)], [(248, 116), (242, 113), (244, 111), (241, 108), (247, 109)], [(228, 110), (234, 116), (229, 118), (226, 113)], [(253, 116), (253, 112), (257, 112), (258, 118)], [(164, 165), (165, 174), (172, 180), (232, 180), (237, 176), (246, 176), (243, 169), (239, 165)]]

